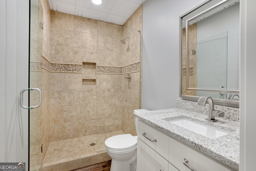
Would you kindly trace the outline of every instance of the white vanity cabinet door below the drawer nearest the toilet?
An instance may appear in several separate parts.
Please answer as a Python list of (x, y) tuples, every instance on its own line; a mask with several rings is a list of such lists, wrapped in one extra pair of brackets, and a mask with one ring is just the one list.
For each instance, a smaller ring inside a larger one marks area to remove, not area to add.
[(137, 171), (169, 171), (168, 164), (168, 161), (138, 139)]

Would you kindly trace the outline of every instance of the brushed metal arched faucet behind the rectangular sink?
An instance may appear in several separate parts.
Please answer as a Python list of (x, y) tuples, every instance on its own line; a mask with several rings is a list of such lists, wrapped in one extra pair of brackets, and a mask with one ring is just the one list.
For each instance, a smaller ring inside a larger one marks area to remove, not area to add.
[(209, 103), (209, 115), (208, 115), (208, 118), (206, 118), (206, 120), (214, 122), (214, 121), (218, 121), (217, 119), (215, 119), (215, 116), (216, 117), (224, 117), (224, 112), (219, 112), (219, 111), (214, 110), (214, 103), (213, 103), (212, 97), (210, 97), (210, 96), (200, 97), (197, 104), (201, 105), (201, 106), (205, 106), (207, 100)]

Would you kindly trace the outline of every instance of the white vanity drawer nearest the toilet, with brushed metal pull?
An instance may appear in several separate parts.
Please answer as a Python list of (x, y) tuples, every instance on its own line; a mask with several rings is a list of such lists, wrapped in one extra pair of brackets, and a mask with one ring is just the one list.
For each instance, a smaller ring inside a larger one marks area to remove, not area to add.
[[(169, 137), (150, 125), (138, 120), (137, 136), (157, 153), (168, 159)], [(145, 134), (146, 133), (146, 134)], [(143, 135), (144, 134), (144, 135)], [(146, 137), (148, 137), (148, 139)], [(151, 139), (152, 141), (150, 141)], [(156, 141), (155, 141), (156, 140)]]

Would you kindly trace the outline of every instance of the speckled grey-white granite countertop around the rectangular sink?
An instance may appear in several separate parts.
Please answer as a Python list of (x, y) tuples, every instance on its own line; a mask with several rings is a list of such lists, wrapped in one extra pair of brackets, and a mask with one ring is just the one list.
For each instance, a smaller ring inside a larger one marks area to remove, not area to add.
[[(178, 108), (160, 109), (134, 113), (140, 120), (174, 137), (190, 147), (232, 167), (239, 169), (239, 123), (216, 117), (218, 121), (205, 120), (206, 115)], [(229, 131), (230, 133), (210, 139), (188, 129), (170, 123), (173, 119), (189, 118), (206, 125)]]

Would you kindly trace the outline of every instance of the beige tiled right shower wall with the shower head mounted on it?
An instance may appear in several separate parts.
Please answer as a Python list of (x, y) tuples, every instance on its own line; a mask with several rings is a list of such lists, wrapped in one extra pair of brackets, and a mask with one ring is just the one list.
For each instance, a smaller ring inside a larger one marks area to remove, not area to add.
[[(140, 56), (142, 56), (142, 5), (132, 14), (132, 16), (124, 23), (123, 37), (130, 36), (130, 52), (126, 51), (127, 47), (123, 46), (122, 54), (122, 66), (140, 62), (142, 64)], [(130, 29), (128, 29), (130, 28)], [(134, 30), (131, 30), (134, 29)], [(136, 42), (136, 43), (135, 43)], [(126, 74), (122, 75), (122, 78)], [(140, 109), (141, 107), (141, 76), (142, 72), (131, 73), (131, 81), (127, 82), (126, 79), (122, 79), (122, 90), (124, 93), (124, 110), (122, 113), (122, 131), (136, 134), (134, 123), (134, 109)]]

